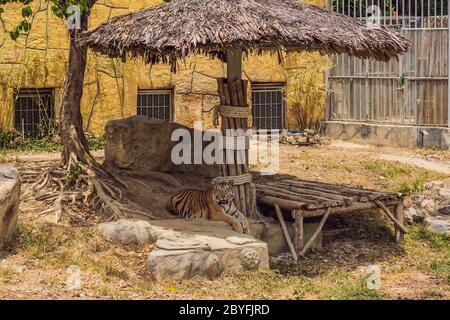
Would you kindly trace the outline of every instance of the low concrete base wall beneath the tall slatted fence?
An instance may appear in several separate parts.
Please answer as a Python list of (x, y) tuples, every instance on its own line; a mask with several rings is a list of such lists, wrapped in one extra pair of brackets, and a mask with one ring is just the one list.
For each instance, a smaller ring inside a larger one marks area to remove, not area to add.
[(326, 121), (324, 133), (332, 139), (393, 147), (450, 149), (450, 128)]

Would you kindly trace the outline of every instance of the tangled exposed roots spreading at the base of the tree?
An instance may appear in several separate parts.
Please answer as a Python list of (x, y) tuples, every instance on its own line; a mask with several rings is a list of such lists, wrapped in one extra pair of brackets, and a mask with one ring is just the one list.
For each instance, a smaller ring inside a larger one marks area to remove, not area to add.
[(55, 223), (63, 217), (72, 224), (135, 216), (157, 218), (124, 200), (122, 189), (128, 186), (120, 176), (106, 172), (98, 164), (86, 165), (74, 154), (70, 155), (65, 167), (47, 164), (41, 170), (25, 169), (22, 176), (22, 182), (27, 186), (23, 201), (44, 203), (47, 209), (37, 216), (53, 213)]

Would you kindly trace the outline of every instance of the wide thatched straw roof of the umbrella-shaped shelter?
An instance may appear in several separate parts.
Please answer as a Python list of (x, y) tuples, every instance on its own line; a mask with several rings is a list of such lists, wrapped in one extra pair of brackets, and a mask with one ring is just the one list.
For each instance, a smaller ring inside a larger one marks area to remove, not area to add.
[(81, 43), (123, 60), (169, 62), (189, 53), (224, 58), (226, 49), (348, 53), (387, 61), (409, 41), (385, 27), (296, 0), (172, 0), (113, 18), (86, 32)]

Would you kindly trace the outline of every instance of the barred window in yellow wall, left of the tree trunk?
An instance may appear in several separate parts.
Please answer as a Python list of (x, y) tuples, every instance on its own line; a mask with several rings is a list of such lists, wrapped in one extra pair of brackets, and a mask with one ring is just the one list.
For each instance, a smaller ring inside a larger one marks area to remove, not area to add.
[(54, 125), (53, 89), (19, 89), (14, 93), (14, 128), (30, 137), (49, 133)]

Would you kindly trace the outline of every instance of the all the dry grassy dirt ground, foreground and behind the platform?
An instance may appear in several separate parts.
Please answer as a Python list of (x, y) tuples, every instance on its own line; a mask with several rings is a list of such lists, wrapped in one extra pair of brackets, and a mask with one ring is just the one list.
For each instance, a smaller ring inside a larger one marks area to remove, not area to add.
[[(279, 174), (300, 179), (414, 193), (425, 182), (450, 177), (445, 171), (450, 163), (447, 151), (336, 141), (313, 147), (282, 145), (280, 151)], [(0, 163), (20, 168), (27, 162), (55, 162), (58, 156), (0, 154)], [(214, 281), (155, 282), (145, 272), (151, 245), (107, 242), (95, 226), (43, 223), (35, 219), (43, 209), (20, 212), (17, 241), (0, 254), (0, 299), (450, 298), (450, 237), (411, 225), (405, 243), (396, 245), (392, 226), (377, 212), (334, 217), (328, 228), (349, 231), (326, 237), (323, 251), (311, 252), (299, 263), (281, 255), (263, 272), (226, 274)], [(71, 265), (81, 269), (79, 290), (67, 289)], [(381, 269), (379, 290), (366, 284), (371, 265)]]

